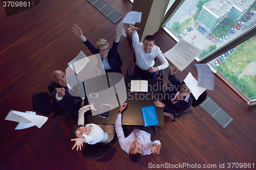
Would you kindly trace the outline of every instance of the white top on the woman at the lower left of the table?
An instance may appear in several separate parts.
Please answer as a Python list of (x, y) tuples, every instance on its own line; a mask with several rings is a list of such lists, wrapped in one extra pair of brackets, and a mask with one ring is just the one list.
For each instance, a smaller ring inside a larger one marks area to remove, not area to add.
[[(79, 109), (78, 113), (78, 125), (83, 125), (84, 124), (84, 112), (90, 110), (89, 109), (90, 105), (83, 106)], [(86, 138), (86, 142), (88, 144), (95, 144), (98, 142), (104, 142), (106, 139), (109, 138), (109, 134), (107, 132), (104, 132), (102, 128), (100, 128), (96, 124), (87, 124), (85, 127), (92, 126), (92, 130), (89, 133), (89, 135), (83, 134), (83, 137)]]

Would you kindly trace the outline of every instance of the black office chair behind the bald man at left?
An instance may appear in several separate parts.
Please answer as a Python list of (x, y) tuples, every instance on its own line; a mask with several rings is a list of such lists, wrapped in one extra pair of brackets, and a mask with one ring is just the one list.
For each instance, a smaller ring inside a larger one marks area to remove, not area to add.
[(71, 122), (73, 122), (73, 116), (71, 113), (67, 113), (65, 110), (61, 109), (57, 102), (51, 103), (50, 94), (47, 92), (37, 92), (32, 96), (32, 106), (34, 111), (41, 114), (55, 114), (52, 118), (71, 115)]

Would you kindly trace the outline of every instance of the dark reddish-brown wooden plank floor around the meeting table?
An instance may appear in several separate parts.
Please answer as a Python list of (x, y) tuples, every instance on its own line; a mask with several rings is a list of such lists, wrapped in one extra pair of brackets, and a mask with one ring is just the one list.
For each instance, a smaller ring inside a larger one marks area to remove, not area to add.
[[(132, 9), (129, 0), (105, 2), (122, 16)], [(115, 141), (114, 150), (98, 161), (84, 159), (81, 151), (72, 151), (70, 129), (75, 123), (69, 117), (52, 119), (52, 113), (40, 129), (14, 130), (17, 123), (4, 119), (10, 110), (32, 111), (32, 95), (47, 91), (53, 70), (65, 71), (80, 50), (91, 55), (71, 32), (72, 24), (78, 23), (94, 44), (102, 37), (112, 44), (117, 25), (86, 0), (41, 1), (10, 17), (0, 8), (0, 23), (0, 169), (152, 169), (148, 163), (216, 164), (217, 169), (223, 163), (224, 169), (227, 163), (254, 163), (255, 168), (256, 111), (251, 111), (218, 77), (214, 91), (208, 95), (234, 122), (224, 130), (201, 107), (191, 108), (194, 114), (181, 117), (176, 123), (165, 120), (159, 136), (153, 137), (162, 142), (160, 155), (145, 156), (138, 164), (131, 163)], [(154, 36), (163, 53), (176, 43), (162, 29)], [(133, 70), (134, 52), (129, 38), (121, 37), (119, 53), (124, 63), (122, 71), (125, 73), (128, 64)], [(195, 63), (178, 72), (178, 78), (183, 80), (189, 71), (197, 76)], [(166, 77), (164, 82), (167, 83)]]

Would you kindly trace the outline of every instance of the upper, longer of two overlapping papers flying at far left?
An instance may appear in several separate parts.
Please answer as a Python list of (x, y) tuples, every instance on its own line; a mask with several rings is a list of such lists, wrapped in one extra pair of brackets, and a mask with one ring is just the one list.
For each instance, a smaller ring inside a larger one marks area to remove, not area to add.
[(41, 128), (46, 123), (48, 117), (11, 110), (5, 119), (18, 123), (34, 123), (35, 126)]

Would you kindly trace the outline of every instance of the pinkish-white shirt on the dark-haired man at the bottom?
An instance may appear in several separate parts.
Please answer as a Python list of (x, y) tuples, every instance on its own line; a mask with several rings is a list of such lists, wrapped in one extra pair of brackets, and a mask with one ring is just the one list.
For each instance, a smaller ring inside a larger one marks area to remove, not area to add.
[[(126, 138), (124, 137), (123, 134), (123, 128), (122, 128), (122, 120), (121, 120), (122, 115), (118, 114), (116, 118), (116, 134), (118, 137), (118, 141), (120, 144), (120, 147), (122, 150), (124, 150), (126, 153), (129, 153), (129, 150), (131, 148), (131, 145), (133, 141), (136, 139), (136, 136), (134, 134), (134, 131), (127, 136)], [(143, 130), (140, 130), (140, 135), (139, 135), (139, 142), (141, 144), (142, 150), (143, 150), (143, 155), (149, 155), (151, 154), (151, 149), (153, 148), (153, 144), (161, 144), (159, 140), (151, 141), (150, 137), (151, 134), (147, 133)]]

